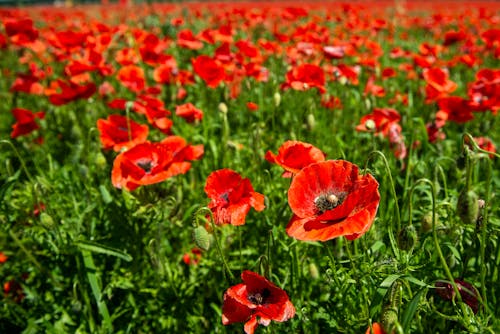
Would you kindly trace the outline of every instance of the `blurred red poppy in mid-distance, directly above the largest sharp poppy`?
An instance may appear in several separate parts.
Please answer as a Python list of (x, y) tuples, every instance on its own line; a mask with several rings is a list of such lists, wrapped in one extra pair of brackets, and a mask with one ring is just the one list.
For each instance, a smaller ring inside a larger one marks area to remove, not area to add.
[(281, 88), (308, 90), (316, 87), (320, 93), (326, 92), (325, 73), (317, 65), (302, 64), (294, 67), (286, 74), (286, 82)]

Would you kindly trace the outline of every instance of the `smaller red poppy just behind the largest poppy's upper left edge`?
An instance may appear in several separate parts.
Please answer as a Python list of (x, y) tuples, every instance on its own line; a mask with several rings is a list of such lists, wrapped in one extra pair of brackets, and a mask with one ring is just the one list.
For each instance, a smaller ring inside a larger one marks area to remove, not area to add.
[(325, 161), (325, 154), (311, 144), (288, 140), (280, 146), (277, 155), (267, 151), (265, 158), (270, 163), (280, 165), (285, 169), (283, 177), (292, 177), (293, 174), (312, 163)]

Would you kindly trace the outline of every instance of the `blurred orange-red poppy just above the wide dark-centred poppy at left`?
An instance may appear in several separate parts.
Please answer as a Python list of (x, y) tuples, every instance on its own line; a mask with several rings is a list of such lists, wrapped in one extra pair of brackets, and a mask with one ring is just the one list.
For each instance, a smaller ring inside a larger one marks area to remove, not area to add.
[(143, 143), (148, 137), (149, 128), (121, 115), (109, 115), (108, 119), (98, 119), (97, 128), (104, 149), (119, 152)]

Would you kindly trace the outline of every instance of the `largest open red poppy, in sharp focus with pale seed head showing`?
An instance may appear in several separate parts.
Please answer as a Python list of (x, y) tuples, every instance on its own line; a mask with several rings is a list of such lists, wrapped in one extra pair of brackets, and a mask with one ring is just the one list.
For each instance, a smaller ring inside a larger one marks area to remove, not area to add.
[(377, 213), (378, 182), (344, 160), (328, 160), (298, 172), (288, 190), (293, 217), (286, 227), (299, 240), (326, 241), (364, 234)]

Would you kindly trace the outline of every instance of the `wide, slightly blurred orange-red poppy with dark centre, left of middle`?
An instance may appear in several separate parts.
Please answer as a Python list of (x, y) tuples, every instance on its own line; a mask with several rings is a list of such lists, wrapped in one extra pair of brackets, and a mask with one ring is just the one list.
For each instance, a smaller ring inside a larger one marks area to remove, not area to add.
[(134, 190), (185, 174), (191, 168), (187, 160), (198, 160), (202, 155), (202, 145), (188, 145), (177, 136), (159, 143), (144, 142), (115, 158), (111, 181), (116, 188)]

